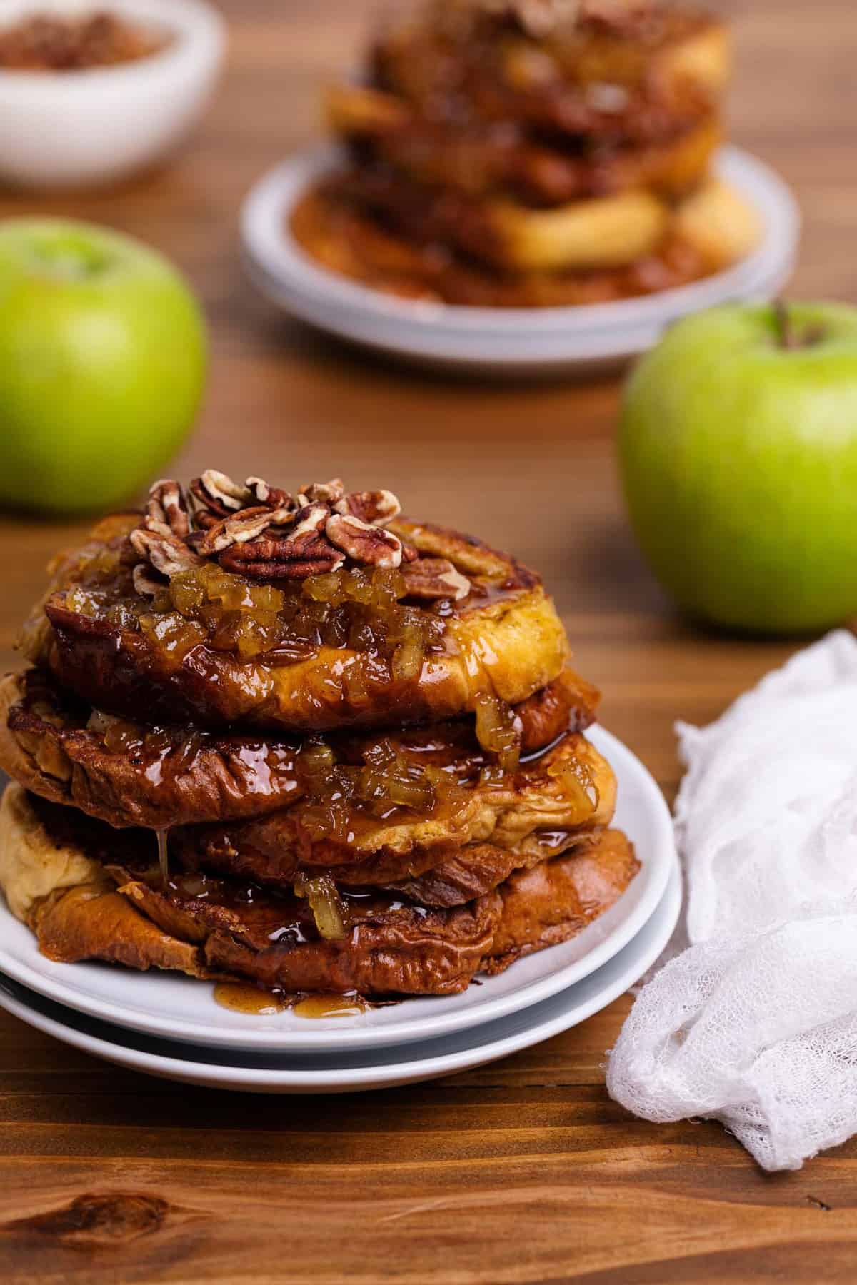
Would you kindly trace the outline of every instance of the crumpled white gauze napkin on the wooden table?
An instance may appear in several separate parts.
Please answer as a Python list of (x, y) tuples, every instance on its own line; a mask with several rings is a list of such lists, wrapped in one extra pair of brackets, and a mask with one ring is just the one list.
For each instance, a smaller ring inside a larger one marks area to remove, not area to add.
[(797, 1169), (857, 1132), (857, 640), (827, 635), (677, 731), (690, 947), (637, 996), (608, 1090)]

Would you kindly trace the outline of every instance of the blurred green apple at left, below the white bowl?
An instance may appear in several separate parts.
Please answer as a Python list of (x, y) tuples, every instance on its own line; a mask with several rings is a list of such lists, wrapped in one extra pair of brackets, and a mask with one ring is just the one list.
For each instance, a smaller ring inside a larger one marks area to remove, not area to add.
[(199, 308), (161, 254), (93, 224), (0, 224), (0, 502), (126, 500), (181, 445), (204, 371)]

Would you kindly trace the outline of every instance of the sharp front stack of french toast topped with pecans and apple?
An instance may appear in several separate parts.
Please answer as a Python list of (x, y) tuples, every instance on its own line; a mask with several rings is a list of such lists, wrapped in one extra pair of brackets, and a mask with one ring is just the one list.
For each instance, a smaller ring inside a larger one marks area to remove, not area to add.
[(1, 687), (0, 885), (53, 960), (448, 995), (637, 870), (541, 581), (334, 479), (152, 487)]

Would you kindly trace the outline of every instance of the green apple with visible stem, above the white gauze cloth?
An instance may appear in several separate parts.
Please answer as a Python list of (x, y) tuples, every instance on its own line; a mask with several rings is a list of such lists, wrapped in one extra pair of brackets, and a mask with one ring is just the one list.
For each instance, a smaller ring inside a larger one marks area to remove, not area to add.
[(678, 321), (626, 386), (619, 459), (642, 551), (690, 614), (795, 634), (857, 612), (857, 308)]

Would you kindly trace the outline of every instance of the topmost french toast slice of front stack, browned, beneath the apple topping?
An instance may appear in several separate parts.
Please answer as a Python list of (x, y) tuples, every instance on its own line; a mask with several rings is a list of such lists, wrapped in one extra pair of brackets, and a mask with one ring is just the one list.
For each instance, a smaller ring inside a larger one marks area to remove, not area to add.
[(473, 712), (486, 693), (519, 704), (561, 673), (568, 642), (537, 576), (470, 536), (403, 519), (389, 529), (421, 555), (443, 550), (472, 583), (445, 622), (443, 646), (425, 654), (414, 678), (396, 678), (373, 650), (348, 646), (320, 646), (292, 664), (265, 663), (263, 654), (242, 663), (206, 642), (184, 654), (168, 651), (134, 621), (117, 623), (122, 600), (110, 592), (119, 581), (109, 577), (90, 595), (86, 612), (69, 607), (68, 586), (99, 554), (116, 549), (117, 536), (105, 538), (103, 528), (59, 563), (53, 592), (26, 628), (27, 658), (81, 699), (122, 717), (267, 732), (454, 718)]

